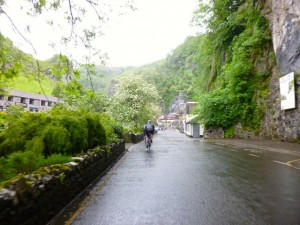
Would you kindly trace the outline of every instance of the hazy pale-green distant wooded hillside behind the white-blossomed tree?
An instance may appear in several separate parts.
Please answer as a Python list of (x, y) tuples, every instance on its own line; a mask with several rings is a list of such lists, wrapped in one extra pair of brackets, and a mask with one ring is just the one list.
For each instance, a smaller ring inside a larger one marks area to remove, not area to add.
[(163, 99), (163, 110), (169, 112), (170, 104), (179, 92), (187, 94), (193, 99), (197, 95), (197, 75), (199, 66), (195, 56), (202, 40), (201, 36), (189, 37), (170, 52), (166, 59), (154, 62), (142, 67), (132, 68), (125, 71), (122, 76), (140, 76), (150, 84), (153, 84)]

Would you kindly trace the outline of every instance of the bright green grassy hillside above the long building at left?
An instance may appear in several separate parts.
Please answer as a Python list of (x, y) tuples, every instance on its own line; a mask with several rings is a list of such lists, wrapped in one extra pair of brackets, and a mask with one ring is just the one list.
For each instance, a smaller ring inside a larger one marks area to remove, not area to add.
[(0, 47), (0, 89), (11, 88), (52, 95), (54, 82), (49, 76), (52, 67), (50, 61), (35, 60), (1, 34)]

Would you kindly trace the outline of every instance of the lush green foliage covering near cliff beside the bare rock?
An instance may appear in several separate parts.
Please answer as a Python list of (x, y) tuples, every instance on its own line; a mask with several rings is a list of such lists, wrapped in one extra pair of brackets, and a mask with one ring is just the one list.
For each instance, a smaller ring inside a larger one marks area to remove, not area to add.
[[(201, 68), (195, 79), (199, 117), (206, 126), (231, 128), (237, 122), (254, 132), (260, 127), (272, 62), (271, 32), (261, 15), (263, 2), (216, 0), (209, 12), (210, 32), (202, 36), (195, 59)], [(263, 85), (262, 85), (263, 83)], [(208, 93), (207, 93), (208, 91)]]

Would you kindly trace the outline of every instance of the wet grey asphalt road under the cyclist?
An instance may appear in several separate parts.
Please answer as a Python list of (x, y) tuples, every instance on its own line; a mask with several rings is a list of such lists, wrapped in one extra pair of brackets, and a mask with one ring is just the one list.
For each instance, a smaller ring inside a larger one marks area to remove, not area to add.
[(152, 150), (132, 146), (53, 224), (297, 225), (300, 170), (277, 162), (283, 158), (297, 159), (161, 131)]

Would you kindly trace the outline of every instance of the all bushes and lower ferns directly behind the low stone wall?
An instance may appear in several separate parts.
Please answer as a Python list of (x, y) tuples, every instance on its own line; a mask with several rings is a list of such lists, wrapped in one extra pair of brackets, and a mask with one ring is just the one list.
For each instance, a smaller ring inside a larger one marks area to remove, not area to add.
[(24, 113), (0, 134), (0, 181), (19, 173), (71, 161), (70, 156), (119, 140), (107, 114), (69, 110), (57, 105), (48, 113)]

